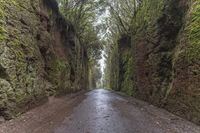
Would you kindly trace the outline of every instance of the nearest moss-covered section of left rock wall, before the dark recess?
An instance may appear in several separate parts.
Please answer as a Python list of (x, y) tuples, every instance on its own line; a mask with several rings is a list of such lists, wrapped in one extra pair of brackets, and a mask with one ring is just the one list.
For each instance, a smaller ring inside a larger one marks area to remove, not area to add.
[(37, 29), (33, 27), (39, 25), (39, 18), (30, 3), (21, 2), (0, 1), (0, 114), (7, 117), (20, 111), (17, 105), (44, 96), (46, 86), (38, 76), (43, 71), (43, 61), (34, 38)]

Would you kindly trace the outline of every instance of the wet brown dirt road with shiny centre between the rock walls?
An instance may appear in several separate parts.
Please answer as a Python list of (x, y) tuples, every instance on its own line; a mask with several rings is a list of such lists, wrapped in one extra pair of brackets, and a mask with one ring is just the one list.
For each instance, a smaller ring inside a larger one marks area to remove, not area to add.
[(107, 90), (50, 100), (0, 133), (200, 133), (200, 127), (165, 110)]

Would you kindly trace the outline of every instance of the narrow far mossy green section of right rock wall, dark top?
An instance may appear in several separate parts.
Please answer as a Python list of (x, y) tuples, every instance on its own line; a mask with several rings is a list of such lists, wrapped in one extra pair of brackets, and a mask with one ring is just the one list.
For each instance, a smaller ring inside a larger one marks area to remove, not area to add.
[(133, 84), (133, 57), (131, 49), (131, 37), (128, 35), (122, 35), (118, 41), (119, 48), (119, 82), (118, 90), (125, 92), (126, 94), (134, 95)]

